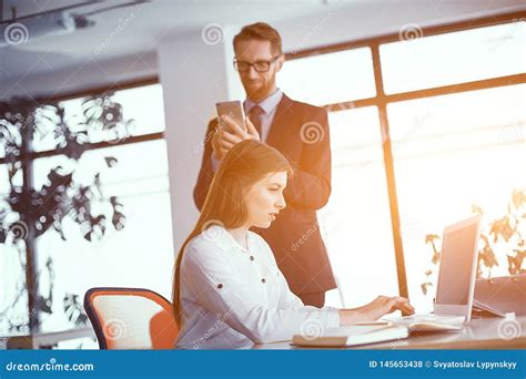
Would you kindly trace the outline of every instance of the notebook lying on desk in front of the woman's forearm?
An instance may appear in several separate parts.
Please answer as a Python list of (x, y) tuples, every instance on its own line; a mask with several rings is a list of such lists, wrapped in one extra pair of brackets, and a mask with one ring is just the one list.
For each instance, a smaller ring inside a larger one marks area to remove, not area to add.
[(393, 339), (407, 338), (409, 331), (404, 326), (391, 322), (377, 325), (353, 325), (325, 329), (321, 336), (295, 335), (292, 345), (310, 347), (344, 347), (365, 345)]

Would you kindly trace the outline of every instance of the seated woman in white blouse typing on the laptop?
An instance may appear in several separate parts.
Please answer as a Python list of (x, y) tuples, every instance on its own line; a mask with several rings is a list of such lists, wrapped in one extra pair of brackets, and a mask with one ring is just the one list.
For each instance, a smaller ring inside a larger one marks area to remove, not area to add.
[(241, 348), (290, 340), (310, 325), (323, 329), (376, 320), (396, 309), (413, 313), (402, 297), (381, 296), (355, 309), (320, 309), (291, 293), (266, 242), (249, 231), (269, 227), (285, 207), (290, 174), (280, 152), (251, 140), (221, 161), (175, 263), (178, 348)]

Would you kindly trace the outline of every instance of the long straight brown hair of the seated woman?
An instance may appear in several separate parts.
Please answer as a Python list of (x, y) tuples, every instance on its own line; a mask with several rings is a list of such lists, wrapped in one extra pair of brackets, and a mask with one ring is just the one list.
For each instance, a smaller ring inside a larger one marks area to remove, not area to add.
[(274, 147), (247, 140), (232, 147), (223, 157), (212, 180), (201, 215), (184, 240), (175, 260), (173, 276), (173, 313), (181, 327), (181, 262), (190, 240), (213, 224), (225, 228), (242, 226), (247, 217), (244, 196), (249, 190), (267, 174), (287, 172), (292, 175), (289, 161)]

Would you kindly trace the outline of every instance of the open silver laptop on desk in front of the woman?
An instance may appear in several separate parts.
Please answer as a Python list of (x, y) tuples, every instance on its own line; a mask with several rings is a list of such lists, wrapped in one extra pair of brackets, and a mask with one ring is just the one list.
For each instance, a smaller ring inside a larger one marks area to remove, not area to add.
[(478, 260), (481, 215), (444, 228), (435, 305), (432, 314), (390, 318), (395, 324), (458, 326), (472, 316)]

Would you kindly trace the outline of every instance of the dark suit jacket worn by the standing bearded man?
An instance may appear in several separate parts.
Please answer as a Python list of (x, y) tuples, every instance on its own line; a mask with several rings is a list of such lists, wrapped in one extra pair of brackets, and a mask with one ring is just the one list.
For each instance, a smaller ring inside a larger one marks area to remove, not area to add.
[[(218, 120), (209, 123), (204, 154), (193, 195), (201, 211), (214, 171), (212, 135)], [(291, 290), (296, 294), (336, 287), (320, 234), (316, 209), (331, 194), (331, 145), (327, 112), (283, 95), (277, 104), (266, 144), (284, 154), (294, 170), (284, 191), (286, 208), (267, 229), (253, 228), (271, 246)]]

